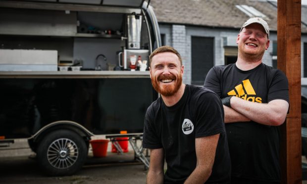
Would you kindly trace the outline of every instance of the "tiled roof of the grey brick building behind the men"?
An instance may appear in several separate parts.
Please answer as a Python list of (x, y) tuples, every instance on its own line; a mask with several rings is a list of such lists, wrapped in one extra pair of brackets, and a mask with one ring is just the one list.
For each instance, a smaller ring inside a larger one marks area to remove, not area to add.
[[(249, 5), (266, 15), (277, 31), (277, 2), (267, 0), (151, 0), (159, 23), (240, 29), (250, 17), (236, 7)], [(302, 32), (307, 33), (307, 6), (302, 5)], [(306, 24), (305, 24), (306, 23)]]

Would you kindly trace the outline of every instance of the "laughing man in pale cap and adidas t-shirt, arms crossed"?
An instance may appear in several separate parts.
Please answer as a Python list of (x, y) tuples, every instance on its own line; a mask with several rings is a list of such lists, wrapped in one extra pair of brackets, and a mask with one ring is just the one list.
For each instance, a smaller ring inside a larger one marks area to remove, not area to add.
[(214, 66), (205, 87), (222, 98), (232, 164), (232, 184), (280, 183), (279, 125), (289, 109), (288, 80), (262, 63), (269, 47), (262, 18), (246, 21), (238, 34), (235, 64)]

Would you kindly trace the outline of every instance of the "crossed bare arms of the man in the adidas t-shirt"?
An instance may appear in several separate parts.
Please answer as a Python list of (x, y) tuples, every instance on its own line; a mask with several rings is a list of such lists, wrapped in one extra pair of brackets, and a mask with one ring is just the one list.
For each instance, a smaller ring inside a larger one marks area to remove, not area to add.
[(224, 105), (225, 123), (255, 121), (269, 126), (284, 123), (289, 103), (275, 99), (268, 103), (255, 103), (233, 96), (230, 98), (231, 108)]

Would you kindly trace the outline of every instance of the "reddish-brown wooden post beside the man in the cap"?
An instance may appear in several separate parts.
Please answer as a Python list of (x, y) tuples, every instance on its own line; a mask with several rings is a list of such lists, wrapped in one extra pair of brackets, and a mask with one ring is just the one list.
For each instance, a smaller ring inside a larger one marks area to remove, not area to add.
[(277, 66), (288, 77), (290, 112), (281, 128), (282, 184), (302, 184), (301, 0), (277, 1)]

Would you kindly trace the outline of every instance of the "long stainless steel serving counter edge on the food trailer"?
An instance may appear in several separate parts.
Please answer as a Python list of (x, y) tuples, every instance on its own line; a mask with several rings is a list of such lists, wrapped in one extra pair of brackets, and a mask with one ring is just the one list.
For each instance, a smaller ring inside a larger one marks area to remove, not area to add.
[(150, 78), (149, 71), (1, 71), (0, 78)]

